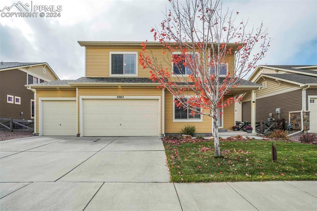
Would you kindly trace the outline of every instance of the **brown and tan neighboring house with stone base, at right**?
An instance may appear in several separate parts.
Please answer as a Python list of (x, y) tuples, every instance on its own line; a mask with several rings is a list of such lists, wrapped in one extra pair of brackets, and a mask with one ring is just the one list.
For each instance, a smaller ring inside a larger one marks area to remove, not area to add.
[[(256, 122), (268, 121), (269, 114), (290, 122), (293, 130), (317, 132), (317, 66), (260, 65), (249, 81), (262, 84), (256, 91)], [(250, 121), (250, 93), (242, 99), (242, 121)], [(303, 127), (301, 122), (303, 122)]]

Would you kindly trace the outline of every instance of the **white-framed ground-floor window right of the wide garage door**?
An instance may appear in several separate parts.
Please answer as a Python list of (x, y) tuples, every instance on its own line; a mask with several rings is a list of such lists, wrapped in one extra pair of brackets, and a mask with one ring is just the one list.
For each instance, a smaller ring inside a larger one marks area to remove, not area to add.
[[(177, 100), (177, 99), (174, 98), (174, 100)], [(183, 98), (181, 100), (182, 102), (187, 104), (188, 98)], [(196, 110), (200, 111), (200, 108), (196, 108)], [(192, 111), (191, 109), (184, 108), (184, 106), (179, 108), (177, 106), (177, 103), (174, 103), (174, 121), (189, 121), (189, 122), (202, 121), (201, 114), (196, 113), (194, 115), (191, 115), (191, 111)]]

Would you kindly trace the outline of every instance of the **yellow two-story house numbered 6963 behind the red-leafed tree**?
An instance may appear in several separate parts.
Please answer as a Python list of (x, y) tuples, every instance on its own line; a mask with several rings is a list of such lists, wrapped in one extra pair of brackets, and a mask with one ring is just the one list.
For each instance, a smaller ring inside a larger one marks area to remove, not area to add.
[[(36, 89), (37, 134), (162, 136), (195, 125), (198, 134), (211, 135), (212, 118), (200, 114), (193, 117), (175, 107), (172, 94), (158, 89), (159, 84), (149, 79), (149, 69), (138, 64), (141, 42), (78, 43), (85, 47), (85, 77), (31, 86)], [(171, 59), (171, 55), (162, 53), (161, 43), (148, 42), (147, 47), (163, 63)], [(230, 71), (234, 54), (226, 61), (226, 71)], [(171, 65), (166, 67), (172, 72)], [(239, 84), (225, 99), (262, 87), (247, 80)], [(252, 109), (250, 113), (254, 113)], [(218, 125), (232, 130), (234, 124), (234, 105), (230, 105), (224, 108)]]

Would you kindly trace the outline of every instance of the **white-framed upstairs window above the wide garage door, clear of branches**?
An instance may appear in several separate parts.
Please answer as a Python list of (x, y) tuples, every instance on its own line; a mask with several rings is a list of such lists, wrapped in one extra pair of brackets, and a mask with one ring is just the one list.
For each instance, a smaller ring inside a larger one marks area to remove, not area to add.
[(111, 51), (110, 76), (131, 77), (138, 76), (138, 52), (136, 51)]

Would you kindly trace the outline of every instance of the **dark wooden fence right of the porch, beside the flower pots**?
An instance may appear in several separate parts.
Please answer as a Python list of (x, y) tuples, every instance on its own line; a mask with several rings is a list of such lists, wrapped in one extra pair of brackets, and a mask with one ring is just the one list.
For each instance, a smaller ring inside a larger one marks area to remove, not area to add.
[[(246, 132), (246, 127), (251, 126), (251, 122), (240, 122), (236, 121), (238, 131)], [(285, 119), (275, 119), (272, 121), (260, 121), (256, 122), (256, 133), (267, 134), (275, 129), (285, 130)]]

